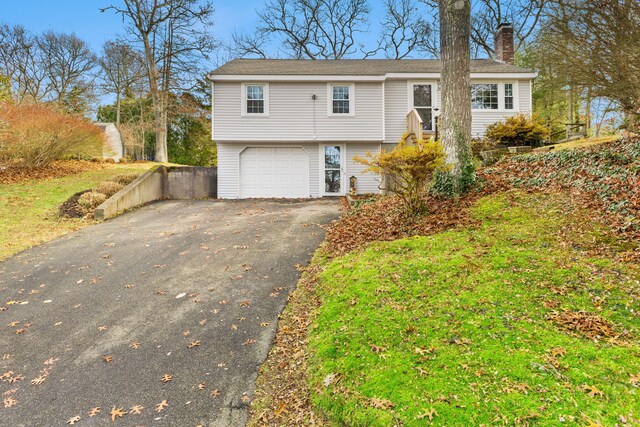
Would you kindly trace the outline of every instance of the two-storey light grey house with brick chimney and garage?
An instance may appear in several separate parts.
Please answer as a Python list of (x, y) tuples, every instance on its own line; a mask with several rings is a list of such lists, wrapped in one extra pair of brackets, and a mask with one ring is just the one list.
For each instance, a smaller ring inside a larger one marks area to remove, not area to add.
[[(473, 133), (531, 112), (535, 72), (514, 66), (513, 29), (498, 28), (497, 60), (471, 61)], [(439, 60), (235, 59), (214, 70), (218, 197), (305, 198), (379, 192), (354, 162), (407, 131), (436, 131)]]

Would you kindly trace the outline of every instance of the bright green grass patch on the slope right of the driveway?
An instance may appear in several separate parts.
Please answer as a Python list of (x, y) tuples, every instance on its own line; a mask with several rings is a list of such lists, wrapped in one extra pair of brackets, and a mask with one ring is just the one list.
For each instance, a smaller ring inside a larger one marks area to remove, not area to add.
[[(489, 196), (473, 215), (326, 266), (314, 406), (349, 426), (640, 425), (640, 271), (615, 261), (629, 247), (560, 196)], [(565, 310), (608, 336), (562, 329)]]

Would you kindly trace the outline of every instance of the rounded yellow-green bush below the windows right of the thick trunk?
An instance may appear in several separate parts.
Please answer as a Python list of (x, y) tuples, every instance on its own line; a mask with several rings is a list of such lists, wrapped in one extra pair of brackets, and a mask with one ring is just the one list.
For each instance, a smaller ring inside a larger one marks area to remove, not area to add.
[(485, 137), (496, 144), (510, 147), (524, 145), (537, 147), (542, 145), (547, 137), (547, 129), (533, 117), (519, 114), (489, 125)]

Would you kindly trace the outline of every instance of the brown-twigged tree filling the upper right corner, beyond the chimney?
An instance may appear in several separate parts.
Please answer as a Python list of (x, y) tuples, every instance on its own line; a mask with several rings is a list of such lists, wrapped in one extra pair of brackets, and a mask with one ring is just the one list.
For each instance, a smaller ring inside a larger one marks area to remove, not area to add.
[(571, 90), (615, 101), (628, 129), (640, 132), (640, 3), (552, 0), (542, 33)]

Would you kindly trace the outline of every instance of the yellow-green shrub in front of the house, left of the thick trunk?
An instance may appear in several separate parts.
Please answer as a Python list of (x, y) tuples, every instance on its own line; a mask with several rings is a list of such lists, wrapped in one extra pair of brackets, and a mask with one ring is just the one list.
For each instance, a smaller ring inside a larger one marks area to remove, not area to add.
[(429, 191), (433, 173), (444, 168), (444, 152), (438, 142), (416, 141), (410, 144), (403, 138), (391, 151), (354, 160), (367, 166), (365, 172), (385, 177), (385, 190), (402, 199), (411, 213), (424, 210), (424, 197)]

